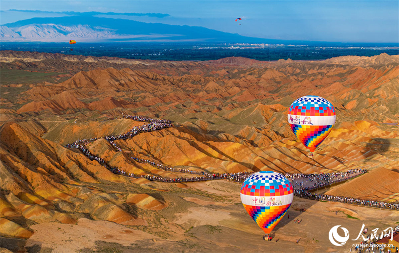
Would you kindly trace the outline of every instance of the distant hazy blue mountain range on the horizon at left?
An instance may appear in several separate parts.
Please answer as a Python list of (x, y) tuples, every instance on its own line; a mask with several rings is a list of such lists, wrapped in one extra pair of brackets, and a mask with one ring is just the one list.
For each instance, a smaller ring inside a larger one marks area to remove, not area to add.
[[(2, 41), (204, 41), (277, 42), (200, 26), (145, 23), (90, 15), (37, 17), (0, 26)], [(266, 41), (267, 40), (267, 41)]]

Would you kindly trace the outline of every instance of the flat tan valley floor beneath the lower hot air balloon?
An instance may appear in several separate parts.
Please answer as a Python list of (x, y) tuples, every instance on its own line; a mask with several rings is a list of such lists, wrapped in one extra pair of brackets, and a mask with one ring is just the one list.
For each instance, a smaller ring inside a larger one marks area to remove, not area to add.
[[(395, 227), (399, 220), (398, 211), (295, 197), (272, 232), (273, 240), (268, 242), (263, 241), (263, 232), (241, 206), (239, 184), (207, 181), (188, 183), (184, 189), (159, 184), (168, 190), (163, 193), (167, 202), (180, 201), (161, 211), (143, 212), (147, 226), (124, 226), (86, 218), (79, 219), (76, 225), (40, 223), (30, 227), (34, 234), (25, 241), (25, 248), (28, 252), (65, 253), (349, 252), (352, 244), (360, 243), (352, 240), (359, 235), (363, 224), (369, 231), (375, 228), (382, 231)], [(301, 208), (305, 212), (299, 212)], [(350, 240), (343, 247), (333, 246), (328, 239), (329, 230), (336, 225), (349, 230)]]

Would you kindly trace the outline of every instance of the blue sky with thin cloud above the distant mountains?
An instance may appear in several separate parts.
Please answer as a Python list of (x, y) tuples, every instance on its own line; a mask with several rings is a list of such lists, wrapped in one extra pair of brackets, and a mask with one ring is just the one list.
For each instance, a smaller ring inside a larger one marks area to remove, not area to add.
[[(196, 25), (272, 39), (399, 42), (398, 0), (1, 0), (0, 8), (1, 24), (66, 15), (51, 11), (155, 12), (169, 15), (97, 16)], [(242, 18), (241, 25), (234, 21), (237, 17)]]

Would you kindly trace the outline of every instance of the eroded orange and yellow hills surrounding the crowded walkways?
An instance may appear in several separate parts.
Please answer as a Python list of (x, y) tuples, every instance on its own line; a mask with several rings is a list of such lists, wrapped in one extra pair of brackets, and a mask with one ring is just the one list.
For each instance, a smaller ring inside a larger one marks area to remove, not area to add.
[[(89, 151), (135, 175), (191, 176), (131, 157), (207, 173), (368, 169), (370, 174), (328, 194), (399, 199), (398, 56), (297, 62), (71, 57), (0, 51), (7, 73), (0, 101), (0, 228), (6, 236), (28, 238), (32, 224), (82, 218), (146, 227), (159, 219), (153, 210), (167, 210), (162, 219), (174, 219), (176, 205), (187, 202), (179, 194), (204, 196), (186, 184), (113, 174), (64, 147), (78, 139), (98, 138)], [(23, 80), (19, 71), (28, 72)], [(287, 124), (289, 105), (303, 95), (328, 99), (337, 113), (314, 160)], [(143, 125), (123, 115), (168, 119), (173, 127), (117, 140), (118, 151), (101, 137)], [(171, 233), (168, 226), (158, 232)]]

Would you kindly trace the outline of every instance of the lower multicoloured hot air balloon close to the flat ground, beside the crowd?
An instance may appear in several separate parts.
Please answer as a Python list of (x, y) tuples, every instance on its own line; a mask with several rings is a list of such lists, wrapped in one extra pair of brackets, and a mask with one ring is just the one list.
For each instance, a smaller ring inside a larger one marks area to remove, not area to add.
[(294, 190), (283, 175), (260, 171), (244, 181), (240, 196), (251, 218), (269, 234), (291, 206)]

